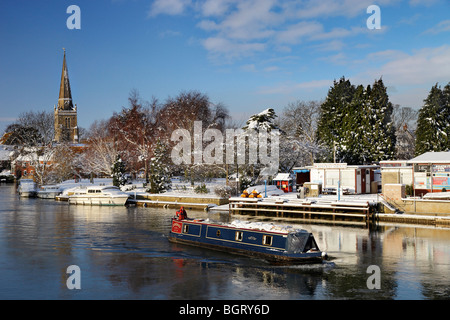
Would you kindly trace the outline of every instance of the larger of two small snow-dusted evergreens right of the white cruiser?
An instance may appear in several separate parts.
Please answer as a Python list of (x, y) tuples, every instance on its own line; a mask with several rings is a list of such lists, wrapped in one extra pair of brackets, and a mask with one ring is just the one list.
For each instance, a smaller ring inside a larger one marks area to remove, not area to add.
[(160, 140), (156, 142), (153, 157), (150, 159), (150, 192), (164, 193), (172, 188), (171, 163), (167, 146)]

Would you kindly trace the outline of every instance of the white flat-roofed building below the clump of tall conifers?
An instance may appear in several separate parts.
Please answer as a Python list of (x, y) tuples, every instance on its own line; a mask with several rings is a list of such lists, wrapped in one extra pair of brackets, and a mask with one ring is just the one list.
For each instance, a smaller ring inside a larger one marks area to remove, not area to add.
[(347, 165), (347, 163), (315, 163), (313, 166), (296, 167), (297, 187), (306, 182), (322, 185), (325, 193), (337, 192), (338, 187), (345, 193), (377, 193), (381, 183), (378, 165)]

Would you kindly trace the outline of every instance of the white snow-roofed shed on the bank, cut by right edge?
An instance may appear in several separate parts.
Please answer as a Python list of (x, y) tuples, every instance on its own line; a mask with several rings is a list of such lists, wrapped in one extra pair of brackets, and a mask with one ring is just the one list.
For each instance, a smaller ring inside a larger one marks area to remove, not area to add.
[(416, 196), (450, 191), (450, 152), (426, 152), (407, 163), (413, 170)]

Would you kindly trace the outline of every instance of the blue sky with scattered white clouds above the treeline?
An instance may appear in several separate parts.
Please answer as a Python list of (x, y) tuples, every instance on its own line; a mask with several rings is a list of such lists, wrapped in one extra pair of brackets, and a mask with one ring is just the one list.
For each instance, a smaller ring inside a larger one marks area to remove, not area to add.
[[(81, 29), (69, 30), (69, 5)], [(367, 7), (378, 5), (381, 29)], [(0, 2), (0, 131), (53, 110), (66, 48), (78, 124), (109, 118), (130, 90), (164, 102), (198, 90), (237, 122), (334, 79), (383, 78), (393, 103), (420, 108), (450, 81), (449, 0), (47, 0)]]

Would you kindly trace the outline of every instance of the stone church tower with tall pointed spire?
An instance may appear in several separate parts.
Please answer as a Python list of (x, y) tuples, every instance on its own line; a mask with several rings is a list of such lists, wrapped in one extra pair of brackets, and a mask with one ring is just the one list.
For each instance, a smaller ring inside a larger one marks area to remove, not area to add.
[(59, 87), (58, 105), (55, 105), (55, 141), (78, 143), (77, 105), (72, 103), (69, 73), (67, 72), (66, 49)]

